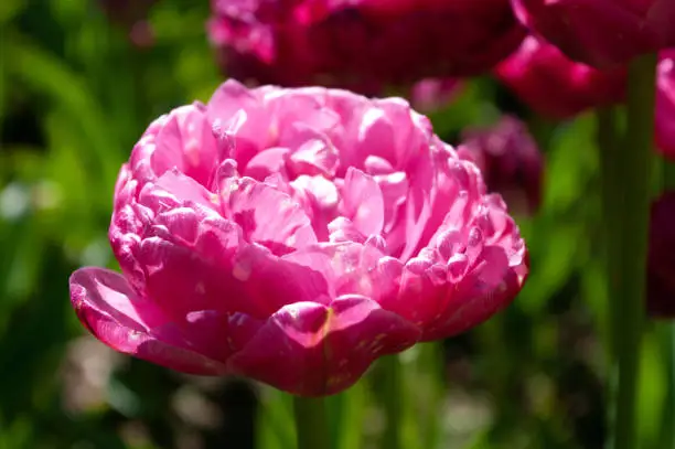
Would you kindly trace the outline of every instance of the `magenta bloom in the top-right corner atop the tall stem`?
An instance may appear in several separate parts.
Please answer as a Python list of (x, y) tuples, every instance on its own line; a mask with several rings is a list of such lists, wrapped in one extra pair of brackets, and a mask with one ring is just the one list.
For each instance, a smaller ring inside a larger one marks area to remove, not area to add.
[(512, 0), (518, 20), (571, 60), (609, 68), (675, 45), (673, 0)]

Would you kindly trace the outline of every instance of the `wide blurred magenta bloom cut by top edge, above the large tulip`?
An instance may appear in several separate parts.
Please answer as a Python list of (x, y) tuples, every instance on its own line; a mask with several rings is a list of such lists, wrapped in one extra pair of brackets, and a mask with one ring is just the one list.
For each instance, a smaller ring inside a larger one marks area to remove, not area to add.
[(525, 35), (508, 0), (212, 0), (212, 11), (228, 76), (368, 95), (486, 72)]

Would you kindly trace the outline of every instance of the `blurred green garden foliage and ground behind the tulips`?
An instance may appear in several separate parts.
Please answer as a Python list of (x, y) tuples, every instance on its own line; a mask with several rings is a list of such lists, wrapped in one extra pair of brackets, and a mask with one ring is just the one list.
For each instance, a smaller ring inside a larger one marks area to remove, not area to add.
[[(292, 448), (285, 395), (115, 354), (72, 311), (75, 268), (116, 268), (111, 193), (135, 141), (224, 79), (204, 29), (208, 1), (147, 2), (147, 21), (106, 13), (106, 3), (0, 1), (0, 448)], [(518, 217), (532, 275), (493, 320), (400, 355), (405, 447), (601, 448), (608, 301), (591, 257), (602, 233), (593, 117), (547, 122), (482, 77), (431, 119), (456, 143), (502, 114), (526, 120), (547, 161), (542, 210)], [(672, 332), (650, 323), (645, 338), (645, 449), (664, 448), (675, 431)], [(386, 374), (375, 366), (330, 398), (335, 449), (377, 447)]]

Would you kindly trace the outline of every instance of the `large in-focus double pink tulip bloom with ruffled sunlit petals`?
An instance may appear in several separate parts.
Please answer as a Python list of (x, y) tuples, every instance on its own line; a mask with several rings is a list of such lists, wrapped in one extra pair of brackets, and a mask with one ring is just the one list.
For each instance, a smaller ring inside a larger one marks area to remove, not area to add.
[(340, 392), (479, 324), (527, 276), (505, 204), (398, 98), (247, 89), (156, 120), (115, 189), (122, 275), (71, 278), (109, 346), (186, 373)]

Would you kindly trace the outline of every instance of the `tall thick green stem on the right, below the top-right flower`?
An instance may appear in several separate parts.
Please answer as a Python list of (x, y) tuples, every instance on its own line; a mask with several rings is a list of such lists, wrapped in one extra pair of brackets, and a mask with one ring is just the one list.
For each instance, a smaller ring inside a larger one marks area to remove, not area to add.
[(622, 207), (613, 225), (620, 225), (610, 245), (617, 257), (617, 362), (619, 370), (613, 445), (615, 449), (636, 446), (636, 391), (640, 348), (644, 324), (651, 169), (654, 140), (654, 81), (656, 56), (635, 58), (629, 66), (628, 129), (619, 146), (617, 170), (611, 173)]

